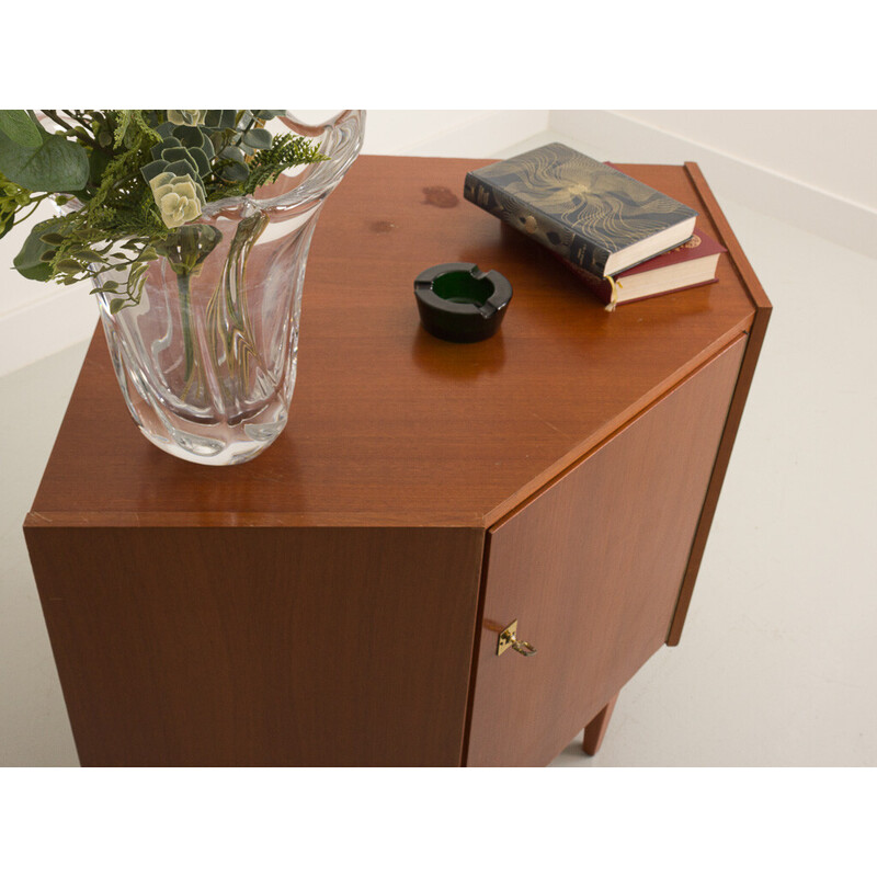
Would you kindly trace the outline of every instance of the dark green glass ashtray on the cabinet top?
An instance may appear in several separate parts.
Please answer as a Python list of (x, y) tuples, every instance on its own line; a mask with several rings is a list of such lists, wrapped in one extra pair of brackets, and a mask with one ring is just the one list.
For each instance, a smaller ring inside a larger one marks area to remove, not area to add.
[(414, 281), (420, 321), (443, 341), (483, 341), (500, 328), (512, 300), (512, 284), (498, 271), (471, 262), (448, 262), (421, 272)]

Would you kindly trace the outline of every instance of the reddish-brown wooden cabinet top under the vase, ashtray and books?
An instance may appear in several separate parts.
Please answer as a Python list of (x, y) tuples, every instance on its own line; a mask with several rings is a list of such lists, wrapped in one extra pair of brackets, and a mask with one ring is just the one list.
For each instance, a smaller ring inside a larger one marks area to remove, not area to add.
[[(289, 423), (250, 463), (198, 466), (147, 442), (99, 330), (27, 524), (490, 525), (749, 328), (758, 282), (696, 169), (618, 166), (699, 212), (729, 249), (719, 282), (610, 314), (463, 198), (486, 163), (356, 160), (314, 236)], [(442, 262), (510, 280), (492, 339), (421, 328), (413, 281)]]

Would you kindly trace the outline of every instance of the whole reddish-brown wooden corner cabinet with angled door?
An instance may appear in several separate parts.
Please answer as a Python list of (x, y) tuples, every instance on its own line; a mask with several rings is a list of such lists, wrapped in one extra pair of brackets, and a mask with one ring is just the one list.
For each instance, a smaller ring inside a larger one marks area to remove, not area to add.
[[(620, 167), (719, 282), (610, 314), (463, 200), (483, 163), (356, 161), (251, 463), (156, 449), (95, 337), (25, 522), (82, 765), (544, 765), (679, 641), (770, 303), (695, 164)], [(499, 334), (420, 327), (443, 262), (511, 281)]]

